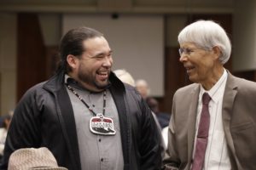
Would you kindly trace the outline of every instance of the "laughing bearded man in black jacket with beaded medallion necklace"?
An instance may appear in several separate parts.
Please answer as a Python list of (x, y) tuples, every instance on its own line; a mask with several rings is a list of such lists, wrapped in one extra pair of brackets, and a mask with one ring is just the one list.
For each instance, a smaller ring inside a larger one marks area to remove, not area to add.
[(47, 147), (69, 170), (159, 169), (160, 133), (148, 105), (111, 71), (112, 50), (87, 27), (61, 40), (54, 77), (29, 89), (15, 109), (4, 150)]

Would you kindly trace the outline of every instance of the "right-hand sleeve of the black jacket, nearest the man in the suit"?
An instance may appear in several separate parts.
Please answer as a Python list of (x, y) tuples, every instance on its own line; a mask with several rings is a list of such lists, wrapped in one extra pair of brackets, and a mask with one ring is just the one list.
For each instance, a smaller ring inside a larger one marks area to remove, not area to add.
[(161, 133), (146, 102), (142, 99), (141, 169), (156, 170), (161, 166)]

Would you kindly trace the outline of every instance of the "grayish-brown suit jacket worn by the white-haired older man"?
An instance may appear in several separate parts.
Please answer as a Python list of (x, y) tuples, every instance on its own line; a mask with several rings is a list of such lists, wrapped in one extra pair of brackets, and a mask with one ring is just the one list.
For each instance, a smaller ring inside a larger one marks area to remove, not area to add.
[[(189, 170), (195, 139), (199, 84), (177, 90), (168, 132), (166, 169)], [(228, 73), (222, 119), (232, 170), (256, 169), (256, 83)]]

